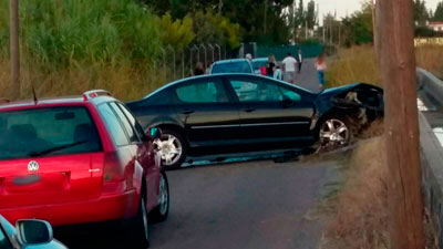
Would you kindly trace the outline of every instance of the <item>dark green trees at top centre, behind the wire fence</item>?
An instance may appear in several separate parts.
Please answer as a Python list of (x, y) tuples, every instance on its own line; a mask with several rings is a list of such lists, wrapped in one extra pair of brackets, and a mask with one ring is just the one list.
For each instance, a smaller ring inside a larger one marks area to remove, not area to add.
[[(224, 39), (230, 41), (277, 44), (288, 42), (290, 28), (284, 13), (285, 9), (292, 4), (292, 0), (144, 0), (143, 2), (153, 8), (157, 14), (169, 13), (173, 20), (189, 14), (199, 20), (205, 15), (209, 22), (214, 19), (224, 19), (227, 24), (223, 30), (230, 34), (230, 38)], [(237, 27), (240, 27), (240, 30)], [(236, 33), (238, 37), (234, 38)], [(229, 43), (233, 45), (235, 42)]]

